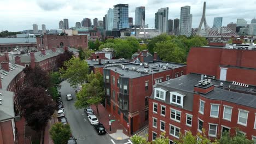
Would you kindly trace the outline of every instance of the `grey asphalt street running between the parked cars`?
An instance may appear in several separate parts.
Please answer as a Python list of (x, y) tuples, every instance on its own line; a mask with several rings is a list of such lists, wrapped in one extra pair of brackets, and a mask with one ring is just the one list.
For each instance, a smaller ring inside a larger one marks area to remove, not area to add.
[[(61, 98), (65, 108), (65, 117), (71, 127), (72, 135), (77, 139), (78, 144), (119, 144), (127, 143), (127, 140), (112, 140), (108, 134), (98, 135), (90, 124), (83, 109), (75, 109), (75, 89), (67, 81), (61, 83)], [(66, 95), (72, 94), (73, 100), (66, 100)]]

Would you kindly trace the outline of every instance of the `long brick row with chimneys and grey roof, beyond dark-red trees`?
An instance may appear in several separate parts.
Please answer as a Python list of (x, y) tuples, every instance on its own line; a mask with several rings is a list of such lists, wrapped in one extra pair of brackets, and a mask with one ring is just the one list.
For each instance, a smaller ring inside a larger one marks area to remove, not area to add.
[(41, 50), (38, 52), (30, 52), (28, 54), (16, 56), (11, 62), (23, 65), (24, 67), (31, 66), (32, 68), (38, 65), (43, 70), (51, 70), (55, 68), (56, 61), (57, 58), (59, 58), (60, 53), (63, 53), (65, 50), (72, 51), (74, 57), (79, 57), (79, 50), (65, 46), (63, 49), (56, 49), (54, 47), (51, 50)]

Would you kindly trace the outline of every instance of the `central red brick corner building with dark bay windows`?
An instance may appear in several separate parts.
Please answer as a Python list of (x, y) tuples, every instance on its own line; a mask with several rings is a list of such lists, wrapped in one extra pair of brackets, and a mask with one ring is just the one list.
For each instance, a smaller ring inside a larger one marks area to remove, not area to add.
[(186, 65), (156, 61), (108, 64), (103, 69), (106, 109), (133, 134), (148, 124), (153, 85), (186, 74)]

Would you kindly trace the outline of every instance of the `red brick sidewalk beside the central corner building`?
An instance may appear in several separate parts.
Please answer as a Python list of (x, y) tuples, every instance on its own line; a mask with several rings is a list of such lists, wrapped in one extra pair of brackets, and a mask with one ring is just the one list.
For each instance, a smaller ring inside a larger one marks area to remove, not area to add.
[(95, 105), (92, 105), (91, 109), (94, 111), (94, 114), (96, 115), (100, 123), (104, 125), (110, 137), (112, 137), (115, 140), (129, 139), (129, 136), (127, 136), (129, 135), (128, 131), (112, 115), (110, 115), (110, 119), (115, 119), (115, 121), (111, 123), (111, 131), (109, 130), (110, 113), (105, 109), (105, 107), (103, 107), (101, 104), (98, 105), (98, 112), (100, 113), (100, 115), (98, 115)]

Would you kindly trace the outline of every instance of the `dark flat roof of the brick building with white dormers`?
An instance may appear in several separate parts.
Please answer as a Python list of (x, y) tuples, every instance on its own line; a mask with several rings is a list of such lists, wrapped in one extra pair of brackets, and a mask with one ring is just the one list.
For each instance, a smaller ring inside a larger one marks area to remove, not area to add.
[[(158, 83), (157, 86), (168, 88), (175, 88), (183, 92), (194, 92), (194, 86), (201, 80), (200, 74), (188, 74), (176, 79), (171, 79), (162, 83)], [(224, 100), (231, 103), (250, 106), (256, 108), (256, 87), (248, 86), (242, 87), (232, 85), (231, 82), (223, 82), (223, 87), (220, 87), (219, 80), (211, 80), (214, 84), (214, 90), (207, 94), (200, 94), (203, 97)]]

